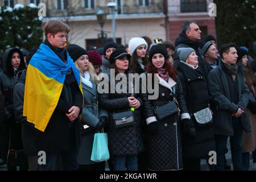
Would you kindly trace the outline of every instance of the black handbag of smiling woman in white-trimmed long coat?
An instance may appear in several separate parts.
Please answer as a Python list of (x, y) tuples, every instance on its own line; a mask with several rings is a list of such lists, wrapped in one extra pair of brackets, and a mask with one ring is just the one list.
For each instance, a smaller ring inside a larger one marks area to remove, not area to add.
[(160, 120), (168, 117), (169, 115), (179, 112), (179, 108), (177, 107), (176, 100), (173, 100), (168, 102), (165, 105), (156, 106), (154, 111), (155, 111), (156, 117)]

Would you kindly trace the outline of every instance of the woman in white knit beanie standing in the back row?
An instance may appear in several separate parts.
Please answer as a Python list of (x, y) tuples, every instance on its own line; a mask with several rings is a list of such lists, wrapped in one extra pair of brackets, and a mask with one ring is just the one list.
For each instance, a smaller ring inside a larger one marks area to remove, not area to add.
[(131, 63), (129, 68), (134, 73), (141, 74), (145, 72), (148, 56), (147, 42), (143, 38), (131, 38), (129, 41), (129, 50), (131, 55)]

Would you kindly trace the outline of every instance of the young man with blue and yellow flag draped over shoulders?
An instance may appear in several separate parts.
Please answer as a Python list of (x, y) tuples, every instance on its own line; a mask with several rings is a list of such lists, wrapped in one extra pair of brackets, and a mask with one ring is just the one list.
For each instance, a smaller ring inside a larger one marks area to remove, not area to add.
[(49, 20), (46, 40), (27, 68), (23, 115), (31, 123), (36, 150), (46, 152), (39, 170), (55, 170), (60, 155), (63, 170), (77, 170), (82, 91), (79, 70), (65, 51), (67, 24)]

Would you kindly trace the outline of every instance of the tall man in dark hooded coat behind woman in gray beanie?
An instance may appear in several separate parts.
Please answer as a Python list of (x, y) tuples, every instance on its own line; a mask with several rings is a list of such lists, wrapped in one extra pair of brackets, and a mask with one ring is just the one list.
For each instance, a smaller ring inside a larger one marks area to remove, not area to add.
[(195, 49), (198, 56), (199, 65), (205, 76), (208, 75), (207, 65), (205, 64), (204, 54), (199, 47), (199, 40), (201, 40), (201, 30), (195, 21), (186, 22), (180, 35), (175, 40), (175, 53), (174, 53), (174, 68), (177, 68), (177, 64), (180, 62), (177, 49), (182, 47), (191, 47)]

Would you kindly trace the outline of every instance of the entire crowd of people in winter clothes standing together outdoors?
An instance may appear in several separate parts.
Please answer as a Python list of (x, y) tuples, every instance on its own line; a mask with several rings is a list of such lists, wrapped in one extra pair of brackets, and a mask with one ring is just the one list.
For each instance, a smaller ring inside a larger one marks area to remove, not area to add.
[[(201, 159), (212, 171), (229, 170), (228, 139), (234, 170), (249, 170), (250, 153), (256, 163), (256, 59), (246, 47), (201, 40), (192, 20), (175, 43), (134, 37), (86, 50), (65, 46), (69, 31), (49, 20), (38, 48), (1, 57), (0, 164), (8, 170), (104, 171), (105, 162), (91, 160), (102, 129), (110, 171), (200, 171)], [(130, 74), (145, 80), (134, 84)]]

